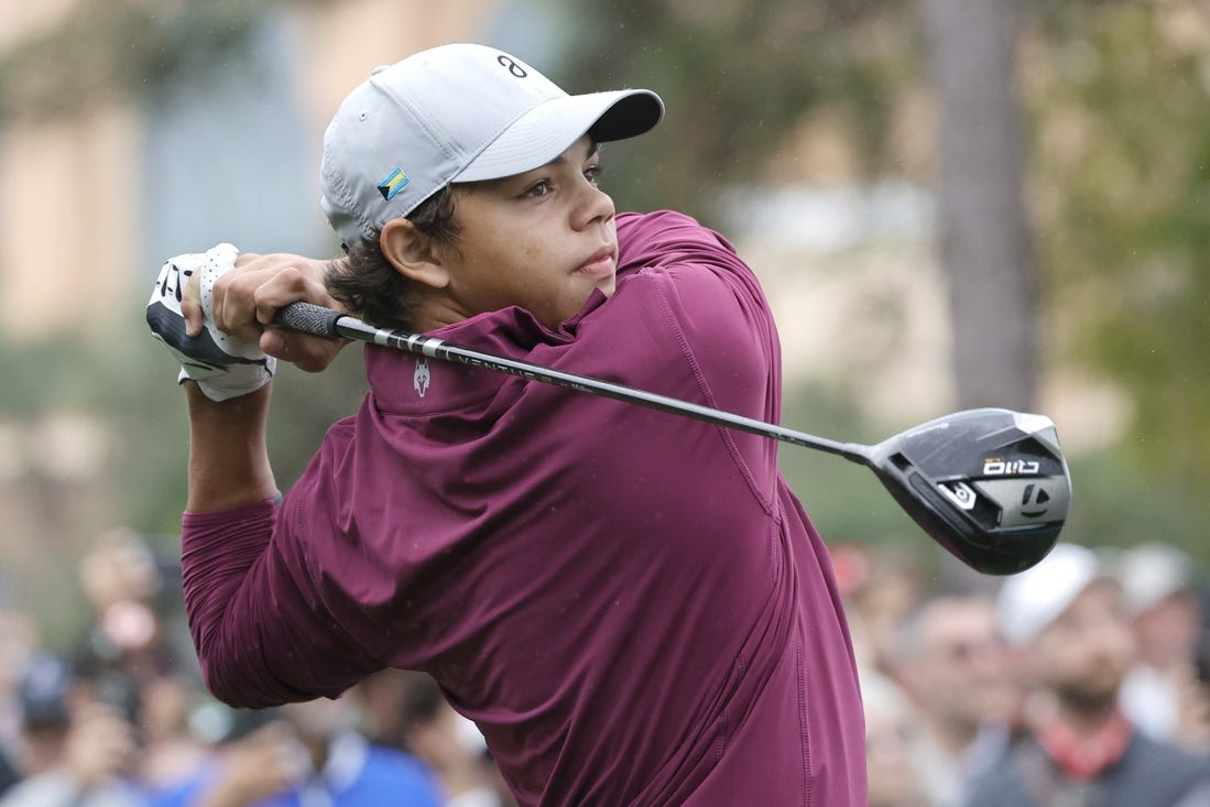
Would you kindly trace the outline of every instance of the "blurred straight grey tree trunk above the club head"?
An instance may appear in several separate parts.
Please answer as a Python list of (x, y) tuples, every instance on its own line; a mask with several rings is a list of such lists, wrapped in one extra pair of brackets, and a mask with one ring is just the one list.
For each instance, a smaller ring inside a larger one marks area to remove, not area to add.
[(938, 235), (957, 407), (1035, 407), (1033, 244), (1016, 99), (1016, 0), (921, 0), (940, 109)]

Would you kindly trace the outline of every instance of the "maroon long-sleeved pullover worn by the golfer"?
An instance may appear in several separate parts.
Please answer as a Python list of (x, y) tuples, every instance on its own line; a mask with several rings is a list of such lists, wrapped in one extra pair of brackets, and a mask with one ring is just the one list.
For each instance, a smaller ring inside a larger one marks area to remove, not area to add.
[[(617, 218), (617, 292), (432, 335), (777, 422), (760, 286), (687, 217)], [(184, 517), (211, 690), (244, 707), (430, 673), (522, 805), (864, 805), (826, 549), (768, 438), (365, 348), (371, 391), (272, 503)]]

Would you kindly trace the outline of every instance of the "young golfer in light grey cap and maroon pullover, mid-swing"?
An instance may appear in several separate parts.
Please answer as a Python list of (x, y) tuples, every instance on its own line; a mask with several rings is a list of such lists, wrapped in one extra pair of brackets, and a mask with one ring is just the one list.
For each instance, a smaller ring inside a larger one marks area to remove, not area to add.
[(347, 258), (224, 244), (165, 265), (148, 318), (186, 380), (185, 596), (218, 697), (416, 669), (522, 805), (865, 803), (848, 629), (774, 440), (368, 346), (359, 411), (277, 495), (275, 358), (318, 370), (340, 347), (263, 327), (300, 299), (776, 422), (751, 270), (598, 186), (598, 145), (662, 113), (644, 90), (567, 96), (494, 48), (425, 51), (324, 137)]

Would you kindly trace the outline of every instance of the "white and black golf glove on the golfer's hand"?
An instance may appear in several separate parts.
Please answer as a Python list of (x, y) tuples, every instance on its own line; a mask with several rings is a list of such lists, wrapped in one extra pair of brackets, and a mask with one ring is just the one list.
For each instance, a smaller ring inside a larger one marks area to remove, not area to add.
[[(204, 253), (177, 255), (160, 270), (151, 299), (148, 301), (148, 324), (151, 335), (162, 341), (180, 362), (178, 384), (186, 379), (211, 400), (226, 400), (255, 392), (269, 384), (277, 369), (277, 359), (266, 356), (258, 342), (248, 342), (224, 334), (214, 325), (212, 302), (214, 281), (235, 266), (240, 250), (229, 243)], [(180, 313), (180, 296), (185, 283), (201, 275), (202, 312), (204, 327), (197, 336), (185, 335), (185, 318)]]

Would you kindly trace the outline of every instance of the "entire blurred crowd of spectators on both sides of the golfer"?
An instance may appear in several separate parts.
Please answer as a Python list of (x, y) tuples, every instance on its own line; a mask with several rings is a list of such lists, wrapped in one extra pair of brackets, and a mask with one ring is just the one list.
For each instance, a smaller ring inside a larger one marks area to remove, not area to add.
[[(871, 807), (1210, 805), (1210, 609), (1187, 555), (1061, 543), (991, 578), (900, 551), (832, 548)], [(428, 676), (230, 709), (200, 681), (174, 558), (115, 531), (79, 571), (69, 650), (0, 611), (0, 807), (515, 805)]]

